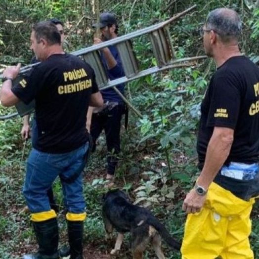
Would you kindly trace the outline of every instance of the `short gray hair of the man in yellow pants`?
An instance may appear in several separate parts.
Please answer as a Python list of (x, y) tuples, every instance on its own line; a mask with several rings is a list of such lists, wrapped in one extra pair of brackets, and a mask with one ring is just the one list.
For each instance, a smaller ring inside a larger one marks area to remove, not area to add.
[(242, 22), (237, 12), (228, 8), (211, 11), (205, 22), (206, 29), (214, 30), (222, 42), (238, 41), (242, 31)]

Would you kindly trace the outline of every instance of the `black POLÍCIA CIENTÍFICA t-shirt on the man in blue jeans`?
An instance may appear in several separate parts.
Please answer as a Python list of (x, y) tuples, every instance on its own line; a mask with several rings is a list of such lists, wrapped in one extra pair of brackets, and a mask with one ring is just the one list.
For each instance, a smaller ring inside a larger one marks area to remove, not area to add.
[(34, 148), (66, 153), (88, 140), (86, 113), (98, 91), (93, 69), (71, 54), (54, 54), (28, 73), (13, 93), (24, 103), (35, 99), (38, 139)]

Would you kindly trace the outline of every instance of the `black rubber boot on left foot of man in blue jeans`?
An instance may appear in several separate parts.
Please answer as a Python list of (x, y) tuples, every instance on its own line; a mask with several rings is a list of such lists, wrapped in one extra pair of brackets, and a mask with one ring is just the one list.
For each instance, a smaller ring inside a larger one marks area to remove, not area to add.
[(51, 218), (42, 222), (32, 222), (39, 245), (36, 254), (24, 255), (23, 259), (59, 259), (57, 219)]

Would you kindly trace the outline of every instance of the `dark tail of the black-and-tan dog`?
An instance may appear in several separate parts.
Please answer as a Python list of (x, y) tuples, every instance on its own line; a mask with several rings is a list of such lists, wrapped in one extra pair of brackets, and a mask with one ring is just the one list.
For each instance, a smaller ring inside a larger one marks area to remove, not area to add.
[(159, 220), (153, 216), (150, 215), (147, 218), (147, 223), (151, 226), (153, 226), (157, 232), (160, 234), (160, 236), (167, 242), (167, 244), (176, 249), (176, 250), (180, 250), (181, 249), (181, 242), (175, 240), (170, 233), (168, 232), (168, 230), (165, 228), (165, 226), (159, 222)]

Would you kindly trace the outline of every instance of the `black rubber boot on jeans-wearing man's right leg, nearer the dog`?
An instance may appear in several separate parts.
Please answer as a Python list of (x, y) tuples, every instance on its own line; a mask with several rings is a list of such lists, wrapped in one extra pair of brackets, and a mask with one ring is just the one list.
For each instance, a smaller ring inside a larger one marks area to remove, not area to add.
[(84, 221), (67, 220), (70, 259), (83, 259)]

